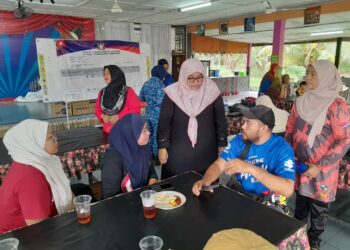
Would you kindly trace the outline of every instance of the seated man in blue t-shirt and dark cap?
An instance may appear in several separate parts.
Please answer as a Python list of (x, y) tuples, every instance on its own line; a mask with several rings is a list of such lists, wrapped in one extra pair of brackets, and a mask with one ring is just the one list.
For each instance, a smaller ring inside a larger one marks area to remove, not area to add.
[[(295, 177), (294, 152), (282, 137), (272, 134), (275, 124), (273, 111), (258, 105), (242, 113), (242, 134), (232, 139), (209, 166), (202, 180), (193, 185), (193, 193), (199, 195), (203, 186), (209, 186), (225, 172), (236, 175), (244, 192), (263, 196), (273, 191), (291, 196)], [(250, 148), (243, 161), (240, 157), (247, 142)]]

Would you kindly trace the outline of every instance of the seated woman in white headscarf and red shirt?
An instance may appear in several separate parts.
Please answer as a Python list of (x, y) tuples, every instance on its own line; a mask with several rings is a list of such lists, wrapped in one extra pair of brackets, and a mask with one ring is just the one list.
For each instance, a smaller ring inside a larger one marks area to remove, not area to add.
[(0, 233), (71, 209), (72, 192), (48, 123), (25, 120), (4, 136), (13, 159), (0, 187)]

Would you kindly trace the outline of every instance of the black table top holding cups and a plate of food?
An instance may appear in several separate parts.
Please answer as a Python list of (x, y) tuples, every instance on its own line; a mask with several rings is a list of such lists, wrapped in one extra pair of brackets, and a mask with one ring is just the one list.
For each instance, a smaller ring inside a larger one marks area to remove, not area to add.
[(1, 235), (0, 240), (15, 237), (19, 249), (138, 249), (141, 238), (157, 235), (163, 249), (193, 250), (203, 249), (213, 233), (224, 229), (249, 229), (277, 246), (304, 226), (226, 187), (196, 197), (192, 185), (200, 178), (188, 172), (164, 180), (187, 201), (173, 210), (158, 209), (154, 219), (143, 217), (140, 192), (145, 187), (95, 203), (88, 225), (80, 225), (73, 211)]

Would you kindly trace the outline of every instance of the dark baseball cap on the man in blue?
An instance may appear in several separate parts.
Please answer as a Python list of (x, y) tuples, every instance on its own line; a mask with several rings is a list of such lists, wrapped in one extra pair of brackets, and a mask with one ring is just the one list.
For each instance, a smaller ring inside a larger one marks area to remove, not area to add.
[(247, 119), (256, 119), (267, 125), (270, 129), (275, 126), (275, 115), (269, 107), (258, 105), (248, 110), (242, 111), (242, 114)]

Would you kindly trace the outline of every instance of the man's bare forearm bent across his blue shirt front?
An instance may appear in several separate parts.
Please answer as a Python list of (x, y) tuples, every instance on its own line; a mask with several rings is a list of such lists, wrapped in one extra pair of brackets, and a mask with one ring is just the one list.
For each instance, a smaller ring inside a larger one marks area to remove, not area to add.
[(271, 174), (266, 170), (242, 161), (241, 159), (229, 161), (225, 173), (229, 175), (237, 173), (251, 174), (271, 191), (282, 194), (286, 197), (291, 196), (294, 192), (294, 182), (291, 179)]

